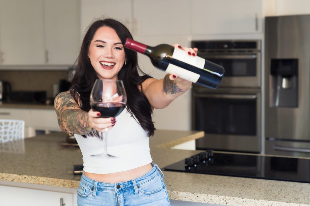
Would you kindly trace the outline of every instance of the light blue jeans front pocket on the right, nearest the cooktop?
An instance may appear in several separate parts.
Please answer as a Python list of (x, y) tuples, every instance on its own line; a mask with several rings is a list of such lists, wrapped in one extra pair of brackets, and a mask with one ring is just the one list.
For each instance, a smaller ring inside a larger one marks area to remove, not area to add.
[(157, 175), (150, 181), (137, 185), (137, 187), (143, 194), (150, 195), (162, 191), (165, 188), (165, 185), (160, 176)]

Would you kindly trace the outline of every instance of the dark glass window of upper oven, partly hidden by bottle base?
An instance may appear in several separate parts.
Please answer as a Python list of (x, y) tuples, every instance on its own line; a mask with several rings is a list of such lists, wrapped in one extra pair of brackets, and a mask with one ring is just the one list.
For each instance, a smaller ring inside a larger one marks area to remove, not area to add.
[(224, 77), (256, 76), (256, 57), (252, 59), (213, 59), (212, 57), (208, 57), (206, 59), (223, 66), (225, 69)]

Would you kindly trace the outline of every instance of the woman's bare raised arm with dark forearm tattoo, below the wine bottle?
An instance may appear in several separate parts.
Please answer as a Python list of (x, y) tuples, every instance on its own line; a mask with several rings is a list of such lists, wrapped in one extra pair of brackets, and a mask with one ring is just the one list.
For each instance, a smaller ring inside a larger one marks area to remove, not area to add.
[(155, 109), (167, 107), (174, 99), (184, 94), (192, 82), (181, 78), (174, 78), (167, 74), (163, 79), (148, 78), (142, 84), (143, 92), (149, 103)]

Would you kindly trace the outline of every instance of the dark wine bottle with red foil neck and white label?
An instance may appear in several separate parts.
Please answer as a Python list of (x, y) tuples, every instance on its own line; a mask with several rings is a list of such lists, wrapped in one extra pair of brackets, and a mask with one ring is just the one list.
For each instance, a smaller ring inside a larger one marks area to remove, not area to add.
[(127, 38), (124, 47), (148, 56), (158, 69), (211, 89), (219, 86), (224, 75), (222, 66), (188, 55), (184, 50), (169, 44), (151, 47)]

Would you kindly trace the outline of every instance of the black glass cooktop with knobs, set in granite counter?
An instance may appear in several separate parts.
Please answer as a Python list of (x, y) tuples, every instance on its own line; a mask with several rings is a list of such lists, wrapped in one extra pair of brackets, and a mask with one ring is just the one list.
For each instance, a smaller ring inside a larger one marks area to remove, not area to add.
[(310, 159), (208, 153), (186, 158), (164, 170), (310, 183)]

